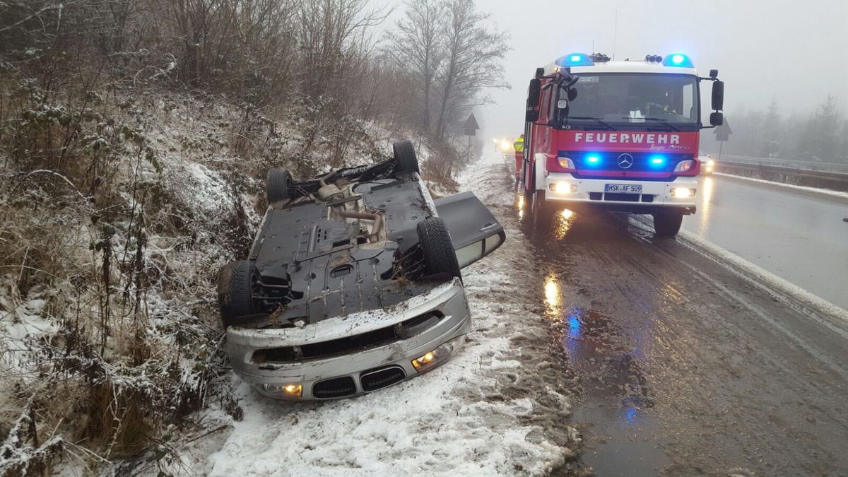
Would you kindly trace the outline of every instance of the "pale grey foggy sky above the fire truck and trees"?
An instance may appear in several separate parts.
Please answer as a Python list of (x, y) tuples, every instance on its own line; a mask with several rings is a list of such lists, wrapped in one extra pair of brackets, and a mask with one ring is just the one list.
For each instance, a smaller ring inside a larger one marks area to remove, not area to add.
[[(403, 14), (402, 3), (396, 8), (389, 28)], [(595, 52), (616, 59), (686, 53), (701, 76), (717, 69), (731, 124), (734, 110), (766, 109), (772, 98), (784, 118), (812, 113), (828, 93), (848, 114), (846, 0), (477, 0), (477, 8), (492, 14), (513, 48), (504, 70), (493, 70), (512, 89), (491, 92), (497, 104), (475, 111), (481, 139), (521, 134), (534, 70), (567, 53), (592, 53), (593, 41)], [(708, 105), (710, 86), (701, 87)]]

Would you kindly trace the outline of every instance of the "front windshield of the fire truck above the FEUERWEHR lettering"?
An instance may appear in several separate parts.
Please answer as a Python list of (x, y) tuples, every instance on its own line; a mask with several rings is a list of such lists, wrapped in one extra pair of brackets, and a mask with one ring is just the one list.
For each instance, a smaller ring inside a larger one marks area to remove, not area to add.
[(577, 98), (568, 104), (568, 116), (561, 122), (594, 119), (609, 124), (650, 122), (671, 129), (695, 126), (700, 118), (696, 81), (690, 75), (582, 73), (573, 86)]

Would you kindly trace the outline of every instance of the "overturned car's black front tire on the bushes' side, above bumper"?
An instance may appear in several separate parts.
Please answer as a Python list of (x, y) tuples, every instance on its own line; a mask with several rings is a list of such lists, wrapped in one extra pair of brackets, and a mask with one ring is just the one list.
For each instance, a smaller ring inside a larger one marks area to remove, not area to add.
[(254, 306), (254, 262), (231, 261), (221, 269), (218, 276), (218, 306), (224, 328), (237, 324), (238, 317), (253, 315)]

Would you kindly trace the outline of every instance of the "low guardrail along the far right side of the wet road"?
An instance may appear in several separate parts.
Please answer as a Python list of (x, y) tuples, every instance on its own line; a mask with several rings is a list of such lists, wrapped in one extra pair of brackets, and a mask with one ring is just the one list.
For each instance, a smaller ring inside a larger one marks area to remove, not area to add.
[(750, 164), (725, 160), (724, 158), (716, 161), (716, 171), (734, 176), (753, 177), (797, 186), (827, 188), (848, 192), (848, 173), (844, 172), (813, 171), (812, 169), (801, 169), (797, 167)]

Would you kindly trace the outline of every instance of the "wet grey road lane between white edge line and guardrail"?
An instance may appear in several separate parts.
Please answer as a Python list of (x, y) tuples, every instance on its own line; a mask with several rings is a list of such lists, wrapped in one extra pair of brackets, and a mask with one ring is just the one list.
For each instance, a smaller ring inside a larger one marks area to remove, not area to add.
[(697, 200), (684, 230), (848, 309), (848, 199), (715, 175)]

